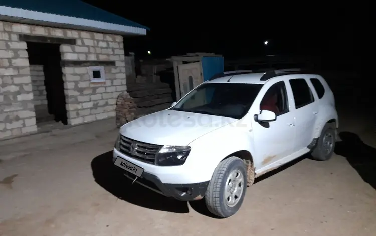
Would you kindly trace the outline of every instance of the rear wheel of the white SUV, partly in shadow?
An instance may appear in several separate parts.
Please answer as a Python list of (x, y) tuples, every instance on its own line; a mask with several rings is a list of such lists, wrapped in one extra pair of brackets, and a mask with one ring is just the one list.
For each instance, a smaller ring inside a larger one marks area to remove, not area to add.
[(321, 131), (317, 145), (312, 150), (311, 156), (317, 161), (327, 161), (334, 153), (336, 141), (336, 127), (334, 123), (326, 123)]

